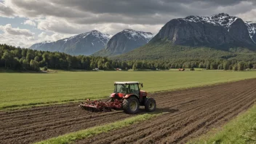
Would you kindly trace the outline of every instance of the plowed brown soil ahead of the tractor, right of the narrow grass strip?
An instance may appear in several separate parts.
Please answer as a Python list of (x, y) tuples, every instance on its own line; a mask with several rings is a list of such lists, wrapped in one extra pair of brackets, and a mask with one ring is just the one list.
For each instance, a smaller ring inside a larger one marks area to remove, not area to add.
[(76, 143), (185, 143), (222, 126), (256, 101), (256, 79), (155, 95), (155, 119)]

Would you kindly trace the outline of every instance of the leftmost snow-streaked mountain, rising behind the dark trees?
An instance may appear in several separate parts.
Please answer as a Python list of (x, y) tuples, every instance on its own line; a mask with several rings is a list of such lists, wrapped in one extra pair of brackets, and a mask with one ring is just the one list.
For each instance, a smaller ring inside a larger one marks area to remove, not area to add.
[(92, 55), (103, 49), (111, 36), (100, 31), (89, 31), (58, 41), (43, 41), (33, 44), (30, 49), (50, 52), (65, 52), (69, 55)]

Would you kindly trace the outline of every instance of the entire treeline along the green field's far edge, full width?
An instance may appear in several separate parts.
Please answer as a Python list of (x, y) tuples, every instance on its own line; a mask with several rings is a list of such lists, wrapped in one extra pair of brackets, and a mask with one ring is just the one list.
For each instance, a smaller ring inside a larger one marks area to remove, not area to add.
[(162, 69), (169, 68), (206, 68), (209, 70), (243, 71), (256, 68), (256, 61), (241, 60), (111, 60), (106, 57), (71, 56), (63, 52), (43, 52), (32, 49), (20, 49), (0, 44), (0, 68), (14, 70), (39, 71), (40, 68), (113, 70)]

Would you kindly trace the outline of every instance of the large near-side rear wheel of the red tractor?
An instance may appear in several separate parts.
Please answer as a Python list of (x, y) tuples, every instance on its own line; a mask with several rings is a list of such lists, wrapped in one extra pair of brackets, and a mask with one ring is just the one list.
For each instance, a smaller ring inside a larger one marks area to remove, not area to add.
[(125, 113), (128, 114), (135, 114), (139, 111), (140, 103), (137, 97), (129, 97), (124, 99), (122, 103), (122, 108), (124, 109)]

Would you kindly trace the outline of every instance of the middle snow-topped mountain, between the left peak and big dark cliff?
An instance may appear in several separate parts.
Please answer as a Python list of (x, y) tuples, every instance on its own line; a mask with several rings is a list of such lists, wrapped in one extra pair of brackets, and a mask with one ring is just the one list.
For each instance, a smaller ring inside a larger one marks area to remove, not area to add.
[(108, 41), (105, 49), (96, 52), (93, 56), (120, 55), (147, 44), (152, 37), (153, 33), (150, 32), (124, 29), (124, 31), (116, 33), (116, 35)]

